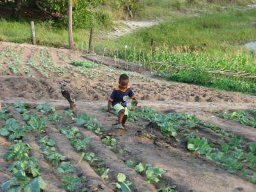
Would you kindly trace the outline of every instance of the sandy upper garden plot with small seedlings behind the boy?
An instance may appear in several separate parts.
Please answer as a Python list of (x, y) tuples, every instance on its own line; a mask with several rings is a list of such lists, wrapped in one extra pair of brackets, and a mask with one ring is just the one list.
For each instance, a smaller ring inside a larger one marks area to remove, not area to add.
[[(58, 83), (65, 81), (72, 88), (72, 94), (77, 100), (106, 100), (116, 86), (118, 76), (124, 72), (127, 73), (124, 70), (86, 61), (79, 53), (65, 49), (1, 42), (0, 50), (0, 72), (6, 76), (0, 79), (0, 86), (4, 89), (1, 93), (2, 97), (19, 95), (27, 99), (61, 99), (61, 94), (57, 91)], [(82, 61), (87, 64), (73, 66), (70, 65), (72, 61)], [(10, 62), (14, 68), (9, 68), (8, 64), (3, 62)], [(250, 95), (221, 92), (191, 84), (170, 83), (135, 72), (128, 72), (128, 74), (131, 86), (141, 100), (256, 102), (255, 97)], [(35, 86), (26, 85), (29, 82), (38, 84), (38, 89), (35, 91)], [(26, 91), (23, 88), (24, 85), (26, 85)], [(20, 93), (20, 89), (24, 91)]]

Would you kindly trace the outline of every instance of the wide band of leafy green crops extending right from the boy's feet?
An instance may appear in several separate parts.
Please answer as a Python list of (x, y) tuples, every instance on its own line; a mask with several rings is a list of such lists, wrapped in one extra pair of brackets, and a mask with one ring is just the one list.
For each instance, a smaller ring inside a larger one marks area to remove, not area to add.
[[(245, 143), (243, 137), (239, 138), (233, 133), (221, 130), (216, 125), (202, 122), (195, 115), (157, 113), (154, 109), (146, 107), (142, 110), (135, 109), (130, 111), (130, 113), (134, 113), (134, 115), (140, 116), (144, 120), (157, 124), (159, 132), (164, 136), (174, 137), (178, 143), (180, 140), (188, 140), (186, 148), (193, 151), (193, 154), (204, 155), (205, 159), (209, 159), (226, 168), (227, 172), (243, 173), (241, 177), (252, 182), (256, 163), (256, 143)], [(214, 145), (207, 139), (200, 138), (198, 131), (193, 131), (198, 126), (227, 136), (230, 141), (228, 143), (220, 143), (220, 146)], [(142, 163), (136, 166), (137, 172), (142, 172), (143, 170), (145, 168)]]

